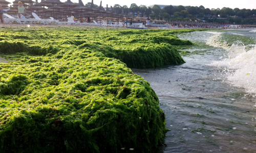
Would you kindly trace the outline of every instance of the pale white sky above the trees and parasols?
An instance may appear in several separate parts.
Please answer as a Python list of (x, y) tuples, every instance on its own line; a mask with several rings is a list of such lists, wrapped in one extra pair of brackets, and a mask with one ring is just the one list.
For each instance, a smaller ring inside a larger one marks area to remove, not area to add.
[[(8, 2), (13, 2), (14, 0), (7, 0)], [(35, 0), (33, 0), (35, 1)], [(66, 2), (67, 0), (60, 0), (61, 2)], [(94, 4), (100, 5), (101, 0), (94, 0)], [(38, 0), (40, 2), (40, 0)], [(78, 3), (78, 0), (71, 0), (71, 2)], [(91, 0), (82, 0), (83, 4), (87, 4), (88, 2), (92, 2)], [(183, 5), (183, 6), (204, 6), (209, 9), (222, 9), (223, 7), (228, 7), (231, 9), (239, 8), (239, 9), (256, 9), (256, 0), (178, 0), (178, 1), (168, 1), (168, 0), (131, 0), (131, 1), (117, 1), (117, 0), (102, 0), (102, 6), (106, 7), (106, 4), (110, 6), (114, 6), (115, 4), (119, 4), (121, 6), (127, 5), (128, 7), (131, 4), (135, 3), (136, 5)]]

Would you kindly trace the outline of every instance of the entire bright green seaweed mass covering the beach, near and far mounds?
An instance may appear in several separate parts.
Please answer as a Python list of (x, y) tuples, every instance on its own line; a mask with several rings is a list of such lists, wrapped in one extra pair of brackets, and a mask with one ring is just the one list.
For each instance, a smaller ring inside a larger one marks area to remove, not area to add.
[(184, 63), (191, 30), (3, 28), (0, 152), (147, 152), (167, 131), (158, 97), (130, 68)]

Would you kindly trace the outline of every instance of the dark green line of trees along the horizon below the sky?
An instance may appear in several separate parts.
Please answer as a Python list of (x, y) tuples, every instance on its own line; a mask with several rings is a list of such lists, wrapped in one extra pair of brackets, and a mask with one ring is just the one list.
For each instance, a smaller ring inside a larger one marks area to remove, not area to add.
[[(98, 7), (95, 5), (95, 7)], [(231, 9), (224, 7), (222, 9), (209, 9), (204, 6), (166, 6), (161, 9), (158, 5), (152, 8), (145, 5), (137, 6), (131, 4), (130, 7), (115, 4), (113, 7), (115, 13), (136, 14), (140, 12), (140, 16), (151, 16), (152, 19), (160, 20), (197, 20), (202, 19), (208, 22), (227, 22), (237, 24), (256, 24), (256, 9)]]

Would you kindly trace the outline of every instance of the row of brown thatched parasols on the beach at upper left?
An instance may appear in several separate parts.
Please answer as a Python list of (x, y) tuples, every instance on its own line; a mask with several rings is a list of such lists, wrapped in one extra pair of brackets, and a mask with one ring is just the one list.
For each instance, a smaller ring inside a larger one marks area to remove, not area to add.
[(77, 20), (80, 22), (85, 22), (88, 18), (92, 21), (95, 20), (112, 20), (115, 21), (123, 21), (123, 14), (116, 14), (114, 9), (108, 8), (106, 5), (106, 9), (100, 6), (98, 9), (94, 8), (93, 0), (91, 3), (91, 7), (86, 7), (79, 0), (79, 3), (72, 3), (70, 0), (67, 2), (60, 2), (59, 0), (41, 0), (40, 3), (36, 0), (36, 2), (32, 0), (15, 0), (11, 7), (8, 6), (10, 2), (5, 0), (0, 0), (0, 4), (2, 4), (3, 9), (7, 9), (7, 13), (17, 17), (18, 14), (18, 2), (22, 2), (26, 8), (27, 17), (32, 17), (32, 12), (36, 13), (41, 19), (48, 19), (49, 17), (53, 17), (54, 19), (65, 21), (68, 16), (75, 16)]

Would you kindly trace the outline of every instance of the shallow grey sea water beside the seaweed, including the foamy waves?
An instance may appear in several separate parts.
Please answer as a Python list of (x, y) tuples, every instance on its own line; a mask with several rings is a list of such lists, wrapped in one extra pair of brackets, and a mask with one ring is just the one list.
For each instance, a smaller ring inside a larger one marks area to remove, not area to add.
[(256, 151), (256, 39), (250, 31), (182, 34), (196, 44), (185, 49), (185, 64), (133, 69), (151, 83), (166, 115), (170, 131), (162, 152)]

